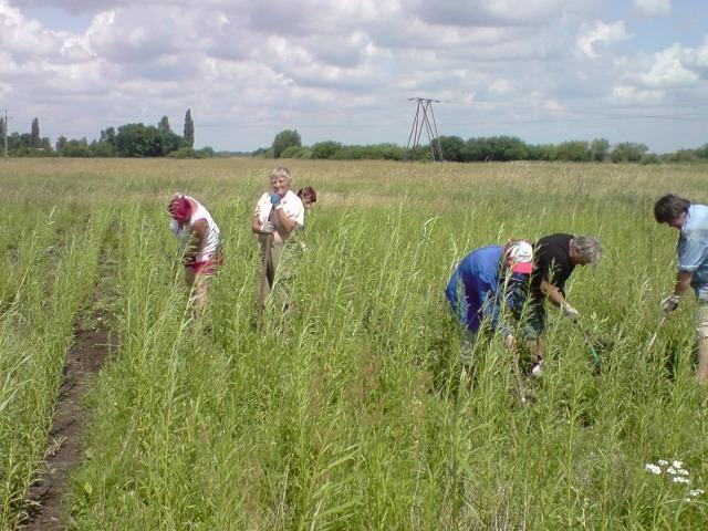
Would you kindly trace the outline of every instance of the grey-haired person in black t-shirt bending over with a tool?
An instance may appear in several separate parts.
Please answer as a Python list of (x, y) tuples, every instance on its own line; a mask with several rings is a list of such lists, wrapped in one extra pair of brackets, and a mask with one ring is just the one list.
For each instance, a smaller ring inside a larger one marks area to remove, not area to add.
[(580, 314), (565, 300), (565, 282), (575, 266), (593, 266), (602, 258), (600, 241), (592, 236), (550, 235), (533, 247), (534, 266), (531, 274), (531, 293), (525, 321), (525, 340), (531, 350), (531, 374), (540, 376), (543, 367), (544, 345), (541, 334), (545, 330), (545, 301), (563, 311), (573, 322)]

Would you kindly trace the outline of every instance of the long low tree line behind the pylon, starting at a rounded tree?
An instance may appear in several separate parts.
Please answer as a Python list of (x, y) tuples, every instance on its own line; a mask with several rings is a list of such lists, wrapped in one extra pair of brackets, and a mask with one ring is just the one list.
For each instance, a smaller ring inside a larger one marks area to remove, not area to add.
[[(511, 160), (546, 160), (572, 163), (683, 163), (708, 160), (708, 144), (696, 149), (679, 149), (674, 153), (650, 153), (645, 144), (621, 142), (611, 145), (605, 138), (587, 140), (569, 140), (561, 144), (527, 144), (514, 136), (476, 137), (467, 140), (459, 136), (440, 136), (435, 138), (434, 146), (439, 143), (442, 158), (457, 163), (511, 162)], [(406, 149), (396, 144), (343, 145), (339, 142), (325, 140), (303, 146), (296, 129), (284, 129), (275, 135), (270, 147), (257, 149), (251, 155), (268, 158), (304, 158), (304, 159), (383, 159), (383, 160), (430, 160), (429, 145)]]

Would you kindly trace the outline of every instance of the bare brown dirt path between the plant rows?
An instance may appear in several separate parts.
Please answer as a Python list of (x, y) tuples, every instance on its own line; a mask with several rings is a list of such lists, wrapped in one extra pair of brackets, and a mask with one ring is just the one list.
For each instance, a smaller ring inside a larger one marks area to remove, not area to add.
[[(100, 324), (100, 322), (98, 322)], [(111, 351), (108, 333), (101, 326), (79, 331), (62, 375), (54, 424), (49, 433), (48, 458), (40, 479), (28, 492), (27, 530), (56, 530), (64, 521), (62, 500), (71, 490), (70, 473), (83, 459), (83, 431), (87, 410), (84, 394)]]

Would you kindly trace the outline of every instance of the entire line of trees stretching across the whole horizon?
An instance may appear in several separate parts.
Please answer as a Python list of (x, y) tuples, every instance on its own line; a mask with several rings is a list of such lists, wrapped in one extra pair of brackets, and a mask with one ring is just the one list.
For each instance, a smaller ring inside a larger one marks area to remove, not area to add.
[[(0, 142), (6, 137), (7, 124), (0, 117)], [(569, 140), (560, 144), (527, 144), (514, 136), (472, 137), (467, 140), (459, 136), (435, 138), (434, 147), (439, 145), (442, 158), (448, 162), (511, 162), (546, 160), (573, 163), (690, 163), (708, 160), (708, 144), (695, 149), (678, 149), (674, 153), (650, 153), (645, 144), (621, 142), (611, 145), (605, 138)], [(7, 135), (8, 155), (63, 156), (63, 157), (170, 157), (209, 158), (215, 156), (254, 156), (264, 158), (301, 158), (333, 160), (431, 160), (431, 148), (421, 145), (406, 149), (393, 143), (373, 145), (345, 145), (334, 140), (324, 140), (304, 146), (296, 129), (283, 129), (275, 135), (270, 147), (254, 152), (216, 153), (211, 147), (194, 148), (195, 123), (191, 111), (185, 114), (183, 135), (171, 131), (169, 119), (163, 116), (156, 126), (142, 123), (107, 127), (97, 139), (88, 142), (85, 137), (69, 139), (60, 136), (54, 146), (49, 137), (40, 134), (38, 118), (32, 119), (30, 133)], [(0, 150), (3, 146), (0, 144)]]

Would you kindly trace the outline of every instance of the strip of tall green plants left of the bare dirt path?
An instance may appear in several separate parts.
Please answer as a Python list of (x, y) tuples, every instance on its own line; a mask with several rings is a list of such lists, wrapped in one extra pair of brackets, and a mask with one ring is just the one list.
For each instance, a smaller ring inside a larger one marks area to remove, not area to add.
[(64, 356), (91, 293), (106, 212), (65, 226), (62, 212), (8, 209), (0, 314), (0, 528), (22, 518), (48, 448)]

